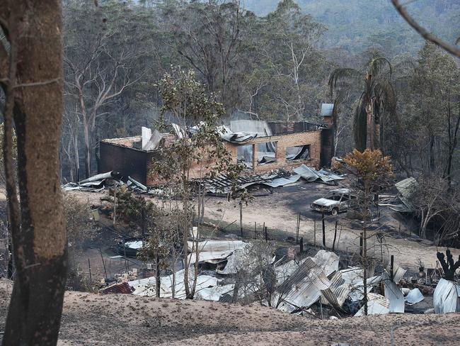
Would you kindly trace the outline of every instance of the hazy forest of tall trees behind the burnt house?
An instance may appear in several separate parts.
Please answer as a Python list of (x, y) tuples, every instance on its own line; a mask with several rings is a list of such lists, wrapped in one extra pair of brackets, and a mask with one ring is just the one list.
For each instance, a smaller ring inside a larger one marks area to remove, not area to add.
[[(98, 140), (154, 126), (157, 83), (173, 66), (192, 69), (227, 117), (316, 121), (321, 103), (338, 102), (336, 154), (344, 155), (355, 145), (362, 80), (340, 79), (333, 94), (328, 80), (338, 68), (365, 73), (376, 57), (389, 60), (382, 76), (396, 96), (396, 108), (381, 114), (384, 153), (406, 174), (459, 172), (459, 62), (425, 44), (388, 1), (98, 5), (64, 1), (63, 180), (96, 172)], [(449, 42), (459, 33), (456, 1), (415, 1), (413, 9)]]

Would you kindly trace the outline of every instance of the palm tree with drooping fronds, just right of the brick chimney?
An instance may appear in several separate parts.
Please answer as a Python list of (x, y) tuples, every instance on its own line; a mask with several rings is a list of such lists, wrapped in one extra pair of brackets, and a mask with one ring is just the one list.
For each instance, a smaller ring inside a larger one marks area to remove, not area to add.
[(355, 147), (363, 151), (365, 148), (380, 148), (380, 118), (384, 112), (394, 116), (396, 112), (396, 93), (391, 83), (392, 67), (385, 57), (372, 57), (363, 69), (335, 69), (329, 77), (330, 96), (333, 91), (340, 91), (340, 83), (352, 82), (347, 86), (358, 86), (361, 96), (355, 113), (353, 130)]

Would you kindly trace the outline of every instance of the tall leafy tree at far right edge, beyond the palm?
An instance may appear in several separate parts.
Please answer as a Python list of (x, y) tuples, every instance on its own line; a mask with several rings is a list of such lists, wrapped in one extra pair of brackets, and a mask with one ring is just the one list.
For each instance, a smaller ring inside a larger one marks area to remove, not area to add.
[[(454, 58), (432, 43), (418, 55), (418, 66), (411, 80), (409, 102), (420, 125), (420, 157), (428, 157), (423, 172), (444, 175), (450, 181), (460, 127), (460, 69)], [(427, 168), (425, 168), (427, 167)]]

